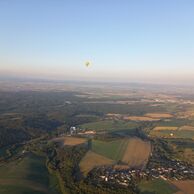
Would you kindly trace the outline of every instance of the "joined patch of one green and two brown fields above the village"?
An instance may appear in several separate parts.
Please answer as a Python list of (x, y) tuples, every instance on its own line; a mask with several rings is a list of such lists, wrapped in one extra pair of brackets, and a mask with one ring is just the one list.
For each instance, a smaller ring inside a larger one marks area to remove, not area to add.
[(139, 138), (124, 138), (114, 141), (93, 140), (89, 151), (80, 163), (83, 173), (94, 166), (122, 162), (128, 167), (143, 167), (151, 153), (151, 144)]

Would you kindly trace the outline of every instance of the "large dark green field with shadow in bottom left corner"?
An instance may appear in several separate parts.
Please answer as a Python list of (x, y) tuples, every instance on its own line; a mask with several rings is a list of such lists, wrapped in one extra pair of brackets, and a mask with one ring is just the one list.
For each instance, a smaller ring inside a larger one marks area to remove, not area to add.
[(56, 180), (51, 177), (45, 160), (34, 154), (0, 166), (1, 194), (57, 194)]

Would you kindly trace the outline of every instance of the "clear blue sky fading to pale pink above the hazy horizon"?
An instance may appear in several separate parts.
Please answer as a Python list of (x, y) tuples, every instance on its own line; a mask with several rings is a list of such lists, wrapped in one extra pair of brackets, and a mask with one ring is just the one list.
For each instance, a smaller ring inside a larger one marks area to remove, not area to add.
[(0, 0), (0, 76), (194, 82), (194, 1)]

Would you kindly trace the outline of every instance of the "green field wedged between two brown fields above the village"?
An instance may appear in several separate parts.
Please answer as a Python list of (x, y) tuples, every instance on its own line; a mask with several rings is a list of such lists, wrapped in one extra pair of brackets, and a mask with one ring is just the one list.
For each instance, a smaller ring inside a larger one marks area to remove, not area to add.
[(92, 151), (109, 159), (119, 161), (122, 159), (123, 154), (125, 153), (128, 142), (128, 139), (115, 140), (110, 142), (93, 140)]

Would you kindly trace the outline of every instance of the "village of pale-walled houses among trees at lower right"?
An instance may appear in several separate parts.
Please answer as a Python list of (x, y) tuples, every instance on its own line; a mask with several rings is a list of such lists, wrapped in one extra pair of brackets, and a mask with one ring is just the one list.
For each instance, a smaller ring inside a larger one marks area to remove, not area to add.
[(173, 166), (140, 169), (115, 169), (114, 167), (99, 167), (96, 174), (99, 180), (108, 183), (129, 186), (131, 182), (140, 180), (185, 180), (194, 179), (194, 166), (181, 161), (173, 161)]

